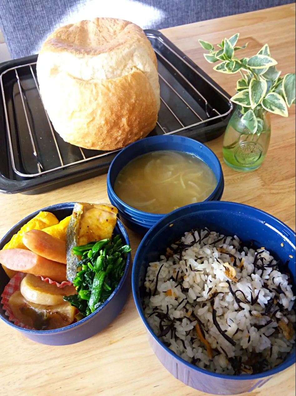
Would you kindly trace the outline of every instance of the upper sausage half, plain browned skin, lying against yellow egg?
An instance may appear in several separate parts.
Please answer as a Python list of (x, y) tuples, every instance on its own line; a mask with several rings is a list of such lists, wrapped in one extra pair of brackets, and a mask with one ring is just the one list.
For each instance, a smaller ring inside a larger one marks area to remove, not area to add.
[(67, 264), (66, 242), (41, 230), (30, 230), (22, 237), (23, 244), (46, 259)]

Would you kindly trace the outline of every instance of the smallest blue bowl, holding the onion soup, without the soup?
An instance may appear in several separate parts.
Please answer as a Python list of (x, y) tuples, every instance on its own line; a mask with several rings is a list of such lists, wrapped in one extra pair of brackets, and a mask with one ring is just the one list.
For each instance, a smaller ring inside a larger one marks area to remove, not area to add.
[(214, 172), (217, 186), (206, 201), (221, 200), (224, 190), (224, 177), (220, 162), (210, 148), (196, 140), (177, 135), (159, 135), (146, 137), (124, 148), (112, 161), (107, 175), (107, 193), (112, 205), (118, 208), (118, 215), (122, 223), (132, 231), (144, 235), (159, 221), (164, 214), (143, 212), (132, 208), (123, 202), (114, 192), (114, 183), (118, 173), (134, 158), (152, 151), (174, 150), (187, 152), (200, 158)]

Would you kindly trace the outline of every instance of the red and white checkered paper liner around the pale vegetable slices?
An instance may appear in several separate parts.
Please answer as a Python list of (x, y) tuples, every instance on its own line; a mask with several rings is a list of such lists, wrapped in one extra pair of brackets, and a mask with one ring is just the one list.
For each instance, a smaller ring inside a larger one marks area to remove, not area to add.
[[(5, 311), (6, 316), (8, 316), (8, 319), (13, 322), (16, 326), (22, 327), (23, 329), (29, 329), (29, 330), (35, 330), (34, 327), (29, 327), (24, 325), (23, 323), (21, 323), (19, 320), (17, 320), (17, 318), (14, 317), (11, 308), (9, 307), (9, 298), (11, 297), (11, 295), (13, 295), (13, 293), (15, 293), (15, 291), (18, 291), (21, 288), (21, 281), (23, 280), (23, 278), (26, 276), (26, 274), (24, 272), (17, 272), (15, 274), (15, 276), (13, 276), (13, 278), (11, 278), (11, 280), (7, 283), (7, 285), (5, 286), (3, 293), (1, 295), (2, 299), (1, 299), (1, 304), (3, 305), (3, 309)], [(54, 284), (57, 287), (65, 287), (65, 286), (70, 286), (72, 284), (72, 282), (62, 282), (62, 283), (58, 283), (55, 282), (49, 278), (43, 278), (43, 276), (39, 276), (37, 275), (38, 278), (41, 278), (41, 280), (43, 280), (44, 282), (50, 283), (50, 284)]]

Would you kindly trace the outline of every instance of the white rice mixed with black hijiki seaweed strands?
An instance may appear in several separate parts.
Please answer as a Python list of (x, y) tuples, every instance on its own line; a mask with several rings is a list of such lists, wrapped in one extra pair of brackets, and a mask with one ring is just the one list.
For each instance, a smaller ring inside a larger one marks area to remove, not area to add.
[(266, 248), (207, 229), (186, 232), (147, 268), (144, 312), (159, 339), (221, 374), (283, 362), (295, 349), (295, 296), (289, 261), (280, 272)]

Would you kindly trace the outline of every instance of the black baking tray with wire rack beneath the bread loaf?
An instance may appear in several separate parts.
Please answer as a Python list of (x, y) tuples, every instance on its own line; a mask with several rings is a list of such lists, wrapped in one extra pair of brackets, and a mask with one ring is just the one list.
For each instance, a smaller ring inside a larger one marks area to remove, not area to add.
[[(158, 62), (161, 109), (151, 135), (200, 142), (219, 137), (232, 112), (230, 96), (161, 32), (145, 30)], [(0, 65), (0, 192), (39, 194), (108, 171), (119, 150), (73, 146), (54, 131), (43, 108), (37, 55)]]

